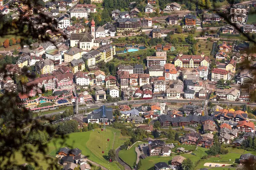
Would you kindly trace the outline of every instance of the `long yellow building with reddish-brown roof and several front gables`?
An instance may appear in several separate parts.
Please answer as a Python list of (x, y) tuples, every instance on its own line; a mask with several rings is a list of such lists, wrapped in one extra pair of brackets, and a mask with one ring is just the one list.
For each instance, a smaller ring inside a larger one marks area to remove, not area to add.
[(175, 67), (184, 68), (196, 68), (198, 66), (209, 67), (209, 62), (209, 57), (204, 56), (204, 53), (201, 55), (183, 55), (183, 53), (180, 52), (174, 59)]

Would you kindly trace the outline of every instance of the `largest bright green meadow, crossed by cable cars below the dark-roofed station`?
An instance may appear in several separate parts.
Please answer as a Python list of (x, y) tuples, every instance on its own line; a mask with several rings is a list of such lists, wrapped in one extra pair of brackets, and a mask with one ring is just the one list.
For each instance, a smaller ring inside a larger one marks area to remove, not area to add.
[[(116, 133), (115, 141), (114, 133)], [(82, 154), (88, 156), (88, 159), (101, 164), (102, 166), (108, 169), (119, 169), (120, 164), (118, 165), (117, 162), (109, 163), (108, 162), (108, 151), (110, 149), (116, 149), (120, 145), (122, 145), (127, 138), (121, 136), (120, 130), (113, 129), (111, 127), (107, 127), (107, 130), (101, 131), (101, 129), (94, 129), (87, 132), (81, 133), (71, 133), (68, 135), (69, 138), (65, 140), (57, 139), (49, 142), (48, 147), (50, 149), (50, 155), (55, 156), (55, 153), (61, 147), (78, 147), (82, 150)], [(108, 142), (107, 139), (110, 139)], [(102, 151), (104, 150), (104, 154)]]

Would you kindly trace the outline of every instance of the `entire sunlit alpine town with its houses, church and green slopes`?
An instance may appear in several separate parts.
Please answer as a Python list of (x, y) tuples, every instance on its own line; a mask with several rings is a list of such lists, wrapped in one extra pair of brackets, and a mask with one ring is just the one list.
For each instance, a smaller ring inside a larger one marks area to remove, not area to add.
[[(17, 96), (20, 111), (57, 135), (99, 142), (100, 156), (87, 141), (51, 148), (63, 170), (255, 163), (256, 3), (222, 2), (0, 0), (13, 29), (26, 20), (22, 30), (39, 33), (24, 39), (10, 29), (0, 37), (0, 95)], [(116, 144), (116, 136), (125, 139)], [(227, 159), (232, 148), (239, 153)], [(125, 157), (129, 150), (136, 155)]]

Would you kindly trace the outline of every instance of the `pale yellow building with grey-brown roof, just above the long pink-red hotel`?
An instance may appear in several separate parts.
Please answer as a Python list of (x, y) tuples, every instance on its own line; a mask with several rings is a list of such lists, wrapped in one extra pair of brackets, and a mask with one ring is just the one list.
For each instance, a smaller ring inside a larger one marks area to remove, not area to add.
[(41, 60), (35, 63), (35, 71), (39, 74), (52, 73), (54, 71), (54, 65), (52, 60)]

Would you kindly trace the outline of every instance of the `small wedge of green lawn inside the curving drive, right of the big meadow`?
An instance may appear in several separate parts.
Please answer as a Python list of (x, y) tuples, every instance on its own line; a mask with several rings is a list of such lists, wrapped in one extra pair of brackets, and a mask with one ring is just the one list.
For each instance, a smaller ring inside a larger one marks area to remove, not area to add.
[(135, 147), (138, 147), (139, 144), (143, 144), (145, 142), (137, 142), (128, 150), (120, 150), (119, 157), (125, 161), (128, 165), (133, 167), (134, 162), (137, 160), (137, 153), (135, 152)]

